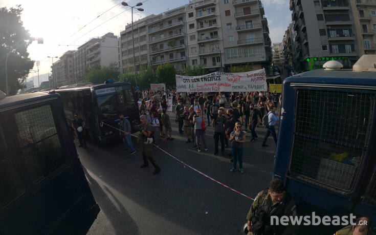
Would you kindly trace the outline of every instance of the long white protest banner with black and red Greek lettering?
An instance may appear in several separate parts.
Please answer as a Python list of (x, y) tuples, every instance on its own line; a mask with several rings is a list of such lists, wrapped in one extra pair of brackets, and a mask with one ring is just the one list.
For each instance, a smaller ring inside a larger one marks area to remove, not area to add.
[(249, 92), (267, 91), (265, 69), (242, 72), (214, 72), (202, 76), (176, 75), (177, 92)]

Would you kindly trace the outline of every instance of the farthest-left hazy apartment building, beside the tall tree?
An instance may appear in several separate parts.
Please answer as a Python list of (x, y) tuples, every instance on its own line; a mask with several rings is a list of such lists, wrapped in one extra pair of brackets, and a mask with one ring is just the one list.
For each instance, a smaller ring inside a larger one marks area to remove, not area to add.
[(67, 51), (52, 65), (54, 87), (71, 84), (73, 79), (73, 53)]

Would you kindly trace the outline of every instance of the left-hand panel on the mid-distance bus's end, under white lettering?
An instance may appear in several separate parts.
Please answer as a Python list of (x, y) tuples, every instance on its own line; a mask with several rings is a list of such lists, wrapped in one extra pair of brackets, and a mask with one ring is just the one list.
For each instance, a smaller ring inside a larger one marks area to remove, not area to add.
[[(109, 88), (102, 88), (95, 90), (96, 100), (97, 100), (97, 109), (98, 109), (98, 124), (103, 121), (108, 125), (112, 125), (118, 127), (119, 120), (119, 101), (116, 95), (116, 88), (109, 87)], [(119, 136), (119, 131), (109, 127), (107, 125), (103, 125), (101, 128), (100, 133), (100, 140), (104, 141), (110, 136), (117, 135)]]

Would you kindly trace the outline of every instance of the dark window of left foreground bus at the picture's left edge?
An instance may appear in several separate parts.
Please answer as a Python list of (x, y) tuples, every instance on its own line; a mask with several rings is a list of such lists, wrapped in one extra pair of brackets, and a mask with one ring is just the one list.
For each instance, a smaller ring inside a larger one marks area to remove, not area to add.
[(0, 126), (0, 210), (25, 193), (25, 187), (19, 178), (14, 163), (9, 156), (2, 126)]

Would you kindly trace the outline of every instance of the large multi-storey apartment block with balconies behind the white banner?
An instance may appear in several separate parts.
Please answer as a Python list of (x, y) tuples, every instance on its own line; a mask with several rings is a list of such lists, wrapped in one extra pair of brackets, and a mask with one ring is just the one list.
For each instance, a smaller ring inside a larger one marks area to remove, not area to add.
[[(121, 32), (123, 70), (134, 66), (131, 25)], [(134, 23), (135, 65), (170, 63), (176, 70), (203, 65), (269, 68), (271, 42), (263, 6), (255, 0), (202, 0)], [(137, 69), (136, 69), (137, 70)]]

